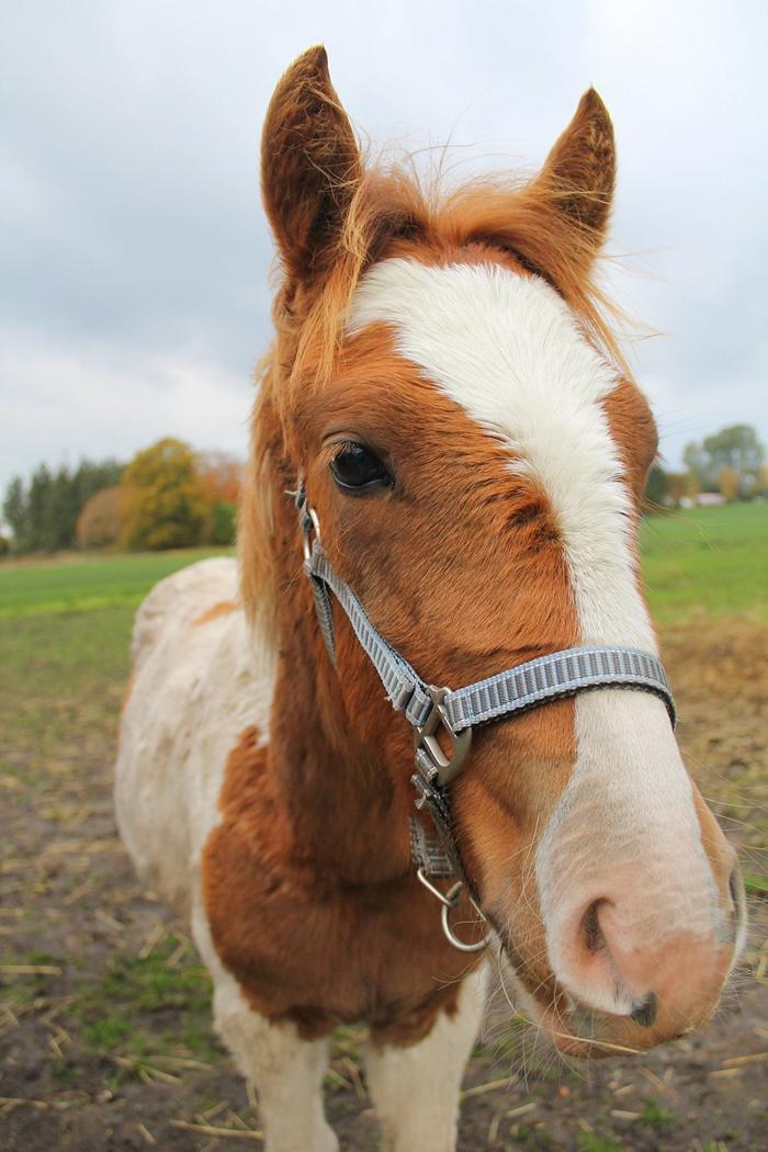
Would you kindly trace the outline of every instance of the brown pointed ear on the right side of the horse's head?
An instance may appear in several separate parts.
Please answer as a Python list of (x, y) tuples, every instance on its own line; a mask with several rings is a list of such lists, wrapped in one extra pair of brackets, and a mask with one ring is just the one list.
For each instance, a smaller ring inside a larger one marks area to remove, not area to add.
[(584, 251), (596, 256), (608, 230), (616, 181), (614, 126), (593, 88), (552, 149), (532, 189), (543, 194), (549, 211), (578, 229)]

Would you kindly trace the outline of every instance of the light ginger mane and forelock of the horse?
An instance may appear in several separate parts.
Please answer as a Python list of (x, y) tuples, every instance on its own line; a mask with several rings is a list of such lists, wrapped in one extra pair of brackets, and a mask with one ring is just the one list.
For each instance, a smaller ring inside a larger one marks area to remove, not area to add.
[[(575, 225), (571, 196), (571, 188), (509, 174), (479, 176), (451, 188), (440, 173), (421, 176), (412, 157), (370, 165), (351, 196), (322, 281), (297, 283), (282, 276), (273, 305), (275, 338), (256, 372), (258, 394), (238, 525), (243, 601), (265, 639), (276, 641), (277, 501), (296, 480), (284, 472), (296, 389), (322, 387), (329, 379), (355, 290), (378, 260), (410, 256), (450, 263), (474, 245), (487, 250), (487, 259), (514, 262), (552, 283), (585, 338), (631, 379), (615, 335), (626, 318), (595, 275), (602, 235)], [(284, 495), (282, 500), (287, 502)]]

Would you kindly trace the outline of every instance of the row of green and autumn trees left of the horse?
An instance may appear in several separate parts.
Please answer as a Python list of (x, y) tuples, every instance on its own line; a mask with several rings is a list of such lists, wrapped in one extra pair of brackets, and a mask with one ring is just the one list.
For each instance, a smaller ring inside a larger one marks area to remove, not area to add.
[(173, 438), (138, 452), (128, 464), (40, 464), (29, 482), (15, 476), (6, 488), (2, 515), (10, 538), (0, 537), (0, 553), (233, 544), (242, 471), (226, 453), (195, 453)]

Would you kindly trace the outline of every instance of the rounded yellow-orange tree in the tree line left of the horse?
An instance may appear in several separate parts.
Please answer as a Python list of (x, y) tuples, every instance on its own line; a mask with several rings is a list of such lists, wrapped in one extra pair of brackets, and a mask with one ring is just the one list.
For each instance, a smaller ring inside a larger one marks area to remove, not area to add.
[(158, 440), (123, 473), (121, 543), (128, 548), (185, 548), (205, 535), (207, 501), (195, 453), (183, 440)]

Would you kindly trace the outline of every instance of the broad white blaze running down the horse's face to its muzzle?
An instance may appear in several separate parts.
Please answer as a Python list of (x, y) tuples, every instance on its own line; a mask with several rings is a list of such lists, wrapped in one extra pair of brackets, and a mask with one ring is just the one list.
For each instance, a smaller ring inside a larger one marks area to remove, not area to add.
[[(349, 331), (374, 323), (390, 325), (397, 351), (508, 445), (511, 472), (531, 476), (546, 493), (580, 643), (656, 653), (638, 588), (631, 499), (603, 408), (618, 381), (555, 290), (497, 265), (386, 260), (358, 287)], [(568, 968), (560, 946), (575, 901), (580, 915), (593, 899), (621, 896), (626, 933), (642, 947), (675, 929), (712, 931), (717, 916), (664, 705), (646, 692), (608, 689), (583, 692), (575, 708), (577, 760), (537, 854), (558, 975)], [(601, 1006), (626, 1010), (610, 993)]]

